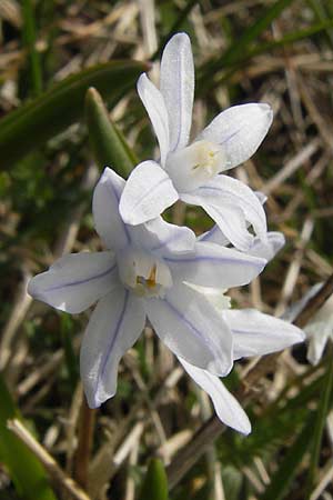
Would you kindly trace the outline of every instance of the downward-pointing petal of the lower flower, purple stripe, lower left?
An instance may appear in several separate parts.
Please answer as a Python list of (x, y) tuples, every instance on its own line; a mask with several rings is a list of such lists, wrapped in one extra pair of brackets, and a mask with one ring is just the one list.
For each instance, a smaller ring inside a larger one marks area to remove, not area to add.
[(101, 299), (84, 332), (80, 371), (90, 408), (100, 407), (117, 392), (118, 366), (144, 328), (142, 304), (118, 287)]

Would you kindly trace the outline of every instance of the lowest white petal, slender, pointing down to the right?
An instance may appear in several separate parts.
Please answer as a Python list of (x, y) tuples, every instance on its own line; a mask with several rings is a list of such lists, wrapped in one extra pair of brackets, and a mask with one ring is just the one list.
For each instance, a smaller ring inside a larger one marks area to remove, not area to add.
[(243, 408), (221, 380), (216, 376), (188, 363), (180, 357), (178, 359), (194, 382), (210, 396), (221, 422), (248, 436), (251, 432), (251, 422)]

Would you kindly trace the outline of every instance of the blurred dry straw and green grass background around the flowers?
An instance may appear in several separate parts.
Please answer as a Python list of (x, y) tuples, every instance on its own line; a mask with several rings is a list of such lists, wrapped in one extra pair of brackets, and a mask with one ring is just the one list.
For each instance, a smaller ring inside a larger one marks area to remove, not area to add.
[[(60, 254), (101, 249), (91, 194), (102, 166), (87, 89), (102, 94), (137, 158), (151, 158), (155, 139), (135, 80), (148, 68), (158, 74), (176, 31), (194, 52), (193, 136), (232, 104), (274, 110), (259, 151), (231, 174), (269, 197), (269, 227), (286, 246), (250, 287), (229, 292), (233, 303), (281, 316), (332, 273), (331, 1), (0, 0), (0, 499), (52, 499), (49, 488), (80, 498), (63, 488), (65, 477), (92, 500), (139, 499), (149, 459), (172, 463), (212, 414), (149, 329), (121, 363), (117, 397), (84, 410), (78, 352), (88, 314), (59, 313), (26, 293)], [(165, 217), (198, 234), (212, 226), (198, 208), (176, 204)], [(225, 430), (171, 500), (333, 498), (332, 356), (313, 368), (305, 354), (305, 346), (282, 353), (246, 388), (252, 434)], [(238, 363), (228, 387), (246, 383), (248, 370), (249, 361)], [(46, 472), (14, 440), (13, 417), (67, 476)]]

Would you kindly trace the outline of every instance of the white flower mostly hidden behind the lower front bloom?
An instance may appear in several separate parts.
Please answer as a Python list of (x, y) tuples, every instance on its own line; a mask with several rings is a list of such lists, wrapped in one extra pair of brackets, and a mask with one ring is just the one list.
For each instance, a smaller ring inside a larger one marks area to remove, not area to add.
[[(220, 244), (226, 243), (218, 227), (203, 234), (203, 239), (216, 241)], [(260, 257), (264, 256), (270, 260), (283, 244), (284, 237), (281, 232), (269, 232), (268, 242), (255, 239), (252, 253)], [(233, 337), (234, 360), (280, 351), (303, 341), (305, 338), (303, 331), (297, 327), (254, 309), (230, 310), (230, 298), (224, 294), (226, 290), (189, 286), (203, 293), (229, 324)], [(251, 422), (246, 413), (219, 377), (193, 367), (181, 358), (179, 360), (198, 386), (211, 397), (219, 419), (234, 430), (249, 434)]]

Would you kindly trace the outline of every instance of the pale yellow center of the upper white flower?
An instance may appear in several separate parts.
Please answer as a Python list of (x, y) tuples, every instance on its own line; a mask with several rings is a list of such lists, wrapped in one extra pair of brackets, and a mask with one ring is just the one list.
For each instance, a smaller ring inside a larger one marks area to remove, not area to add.
[(223, 148), (205, 140), (169, 153), (165, 163), (165, 169), (180, 192), (199, 188), (225, 167)]

